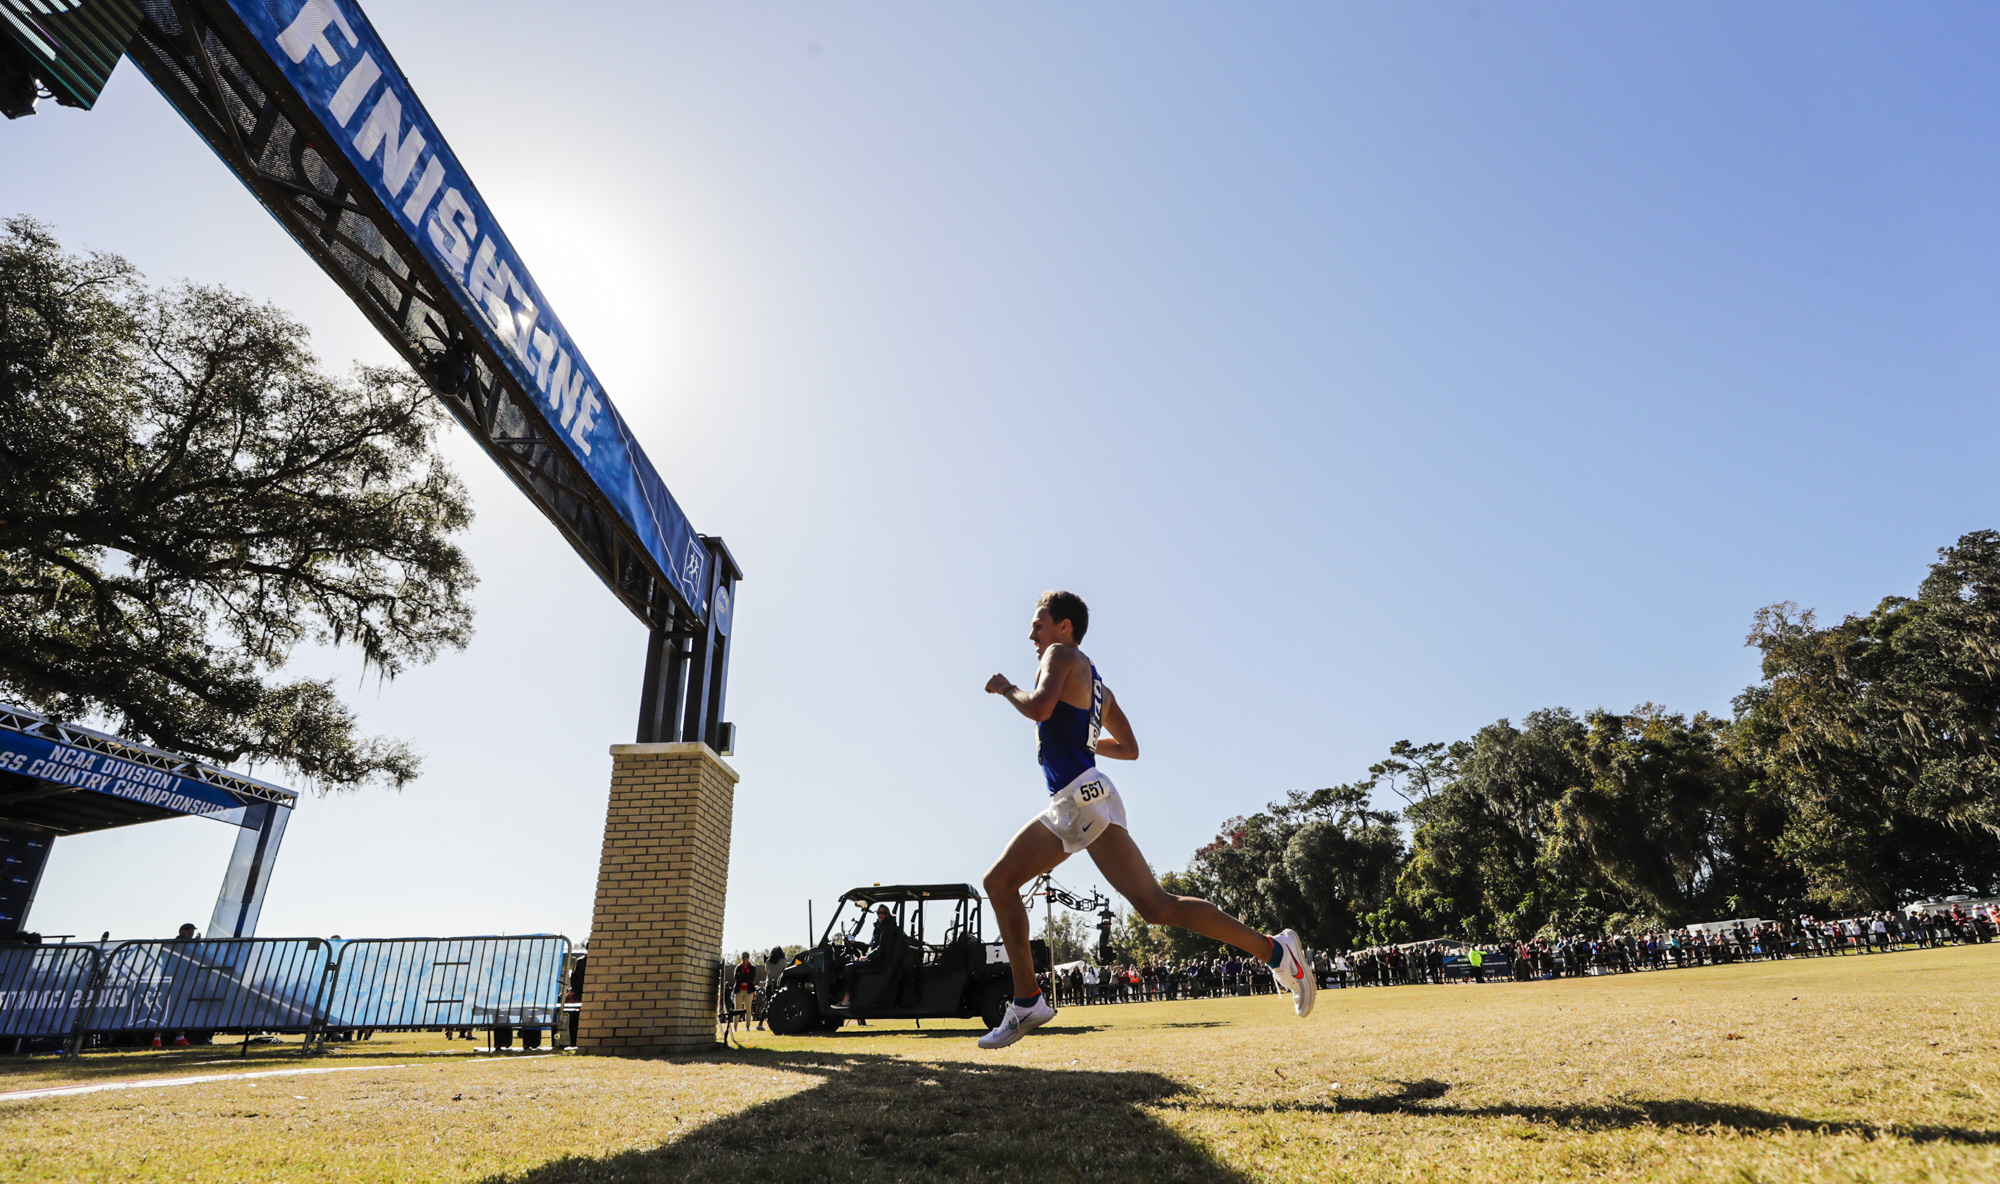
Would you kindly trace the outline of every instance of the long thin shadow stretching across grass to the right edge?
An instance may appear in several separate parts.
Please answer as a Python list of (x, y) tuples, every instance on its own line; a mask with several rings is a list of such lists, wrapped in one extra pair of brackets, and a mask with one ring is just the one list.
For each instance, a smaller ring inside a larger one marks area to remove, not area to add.
[(1330, 1102), (1272, 1102), (1244, 1106), (1202, 1102), (1180, 1096), (1160, 1102), (1168, 1110), (1226, 1110), (1234, 1114), (1414, 1114), (1424, 1118), (1520, 1118), (1572, 1130), (1618, 1130), (1632, 1126), (1662, 1126), (1672, 1130), (1726, 1128), (1738, 1134), (1798, 1132), (1798, 1134), (1858, 1134), (1862, 1138), (1896, 1136), (1910, 1142), (2000, 1144), (2000, 1130), (1972, 1126), (1904, 1126), (1888, 1122), (1822, 1122), (1740, 1106), (1734, 1102), (1702, 1102), (1698, 1098), (1620, 1100), (1578, 1106), (1456, 1106), (1444, 1096), (1452, 1090), (1440, 1080), (1396, 1082), (1398, 1092), (1372, 1098), (1334, 1098)]

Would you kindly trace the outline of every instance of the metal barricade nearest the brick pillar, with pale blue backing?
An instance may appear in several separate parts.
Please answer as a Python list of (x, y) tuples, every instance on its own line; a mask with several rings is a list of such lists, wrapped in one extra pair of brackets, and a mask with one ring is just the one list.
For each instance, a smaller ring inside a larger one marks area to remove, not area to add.
[(342, 942), (326, 1028), (548, 1028), (568, 950), (556, 934)]

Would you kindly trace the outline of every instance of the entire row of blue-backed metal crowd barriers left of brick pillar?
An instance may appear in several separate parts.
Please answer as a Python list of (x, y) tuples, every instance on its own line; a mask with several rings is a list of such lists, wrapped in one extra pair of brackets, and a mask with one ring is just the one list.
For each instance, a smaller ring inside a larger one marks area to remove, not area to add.
[(556, 1028), (570, 940), (220, 938), (0, 948), (0, 1038)]

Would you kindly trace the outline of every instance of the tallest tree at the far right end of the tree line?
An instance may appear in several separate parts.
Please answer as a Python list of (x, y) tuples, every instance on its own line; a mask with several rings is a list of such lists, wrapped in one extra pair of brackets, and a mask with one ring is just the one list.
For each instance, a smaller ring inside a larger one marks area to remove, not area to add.
[(1774, 604), (1740, 744), (1784, 796), (1782, 852), (1832, 908), (2000, 888), (2000, 534), (1938, 552), (1914, 600), (1818, 628)]

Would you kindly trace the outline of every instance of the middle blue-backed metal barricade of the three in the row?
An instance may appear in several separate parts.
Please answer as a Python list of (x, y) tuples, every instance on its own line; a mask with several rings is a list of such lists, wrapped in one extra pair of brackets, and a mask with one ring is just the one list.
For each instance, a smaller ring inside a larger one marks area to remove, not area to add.
[(326, 968), (320, 938), (124, 942), (104, 954), (78, 1032), (308, 1032)]

